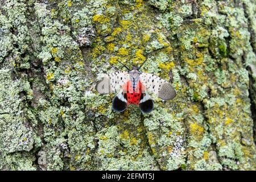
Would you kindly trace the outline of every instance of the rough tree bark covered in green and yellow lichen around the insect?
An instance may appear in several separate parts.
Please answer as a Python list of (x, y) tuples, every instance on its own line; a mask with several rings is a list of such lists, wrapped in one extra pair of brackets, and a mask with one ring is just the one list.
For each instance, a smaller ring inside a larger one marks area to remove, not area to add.
[[(0, 0), (0, 169), (256, 169), (255, 5)], [(177, 96), (115, 113), (117, 59)]]

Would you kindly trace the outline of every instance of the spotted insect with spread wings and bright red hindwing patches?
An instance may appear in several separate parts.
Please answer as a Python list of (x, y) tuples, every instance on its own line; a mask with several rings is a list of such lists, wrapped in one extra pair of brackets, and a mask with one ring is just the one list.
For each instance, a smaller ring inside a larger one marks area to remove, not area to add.
[(140, 72), (139, 69), (142, 65), (140, 67), (133, 66), (130, 70), (126, 65), (121, 64), (128, 72), (105, 74), (96, 84), (96, 90), (100, 94), (117, 93), (112, 101), (114, 111), (122, 112), (129, 105), (137, 105), (142, 113), (146, 114), (154, 109), (151, 93), (162, 100), (172, 100), (176, 96), (176, 92), (169, 82), (150, 73)]

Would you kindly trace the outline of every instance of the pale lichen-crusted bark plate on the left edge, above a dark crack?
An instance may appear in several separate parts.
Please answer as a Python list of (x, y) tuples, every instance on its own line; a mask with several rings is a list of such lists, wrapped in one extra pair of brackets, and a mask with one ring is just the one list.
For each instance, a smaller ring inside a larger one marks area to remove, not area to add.
[[(19, 98), (20, 82), (13, 81), (9, 69), (0, 70), (1, 151), (30, 151), (34, 144), (32, 129)], [(12, 121), (12, 122), (10, 122)]]

